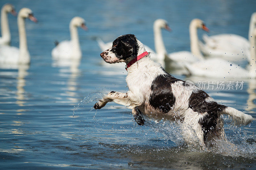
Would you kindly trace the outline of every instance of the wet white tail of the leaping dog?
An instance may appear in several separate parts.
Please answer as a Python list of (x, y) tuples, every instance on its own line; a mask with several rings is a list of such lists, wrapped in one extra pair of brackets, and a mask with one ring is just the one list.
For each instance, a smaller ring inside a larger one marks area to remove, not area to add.
[(232, 118), (232, 122), (235, 125), (247, 125), (247, 124), (250, 124), (253, 120), (251, 115), (247, 115), (232, 107), (226, 107), (222, 111), (222, 114), (228, 115), (228, 117)]

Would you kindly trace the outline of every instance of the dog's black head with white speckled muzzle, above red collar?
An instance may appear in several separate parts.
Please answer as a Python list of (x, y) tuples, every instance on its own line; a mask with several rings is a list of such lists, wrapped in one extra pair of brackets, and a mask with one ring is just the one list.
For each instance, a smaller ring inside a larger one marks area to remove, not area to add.
[(107, 63), (129, 62), (137, 57), (139, 40), (133, 34), (121, 35), (113, 41), (112, 47), (100, 56)]

